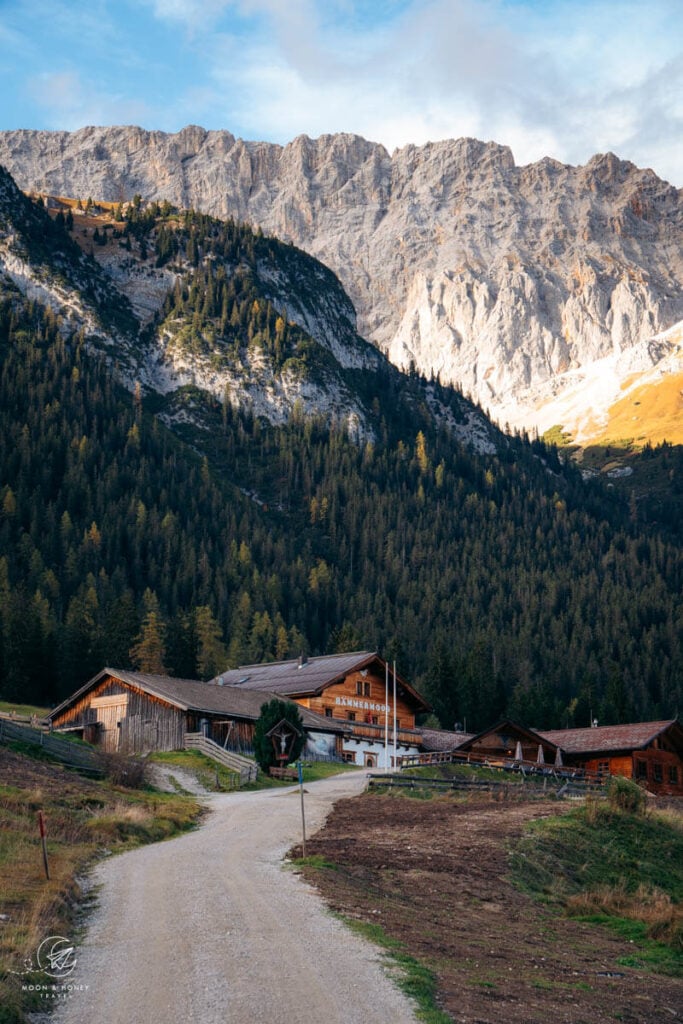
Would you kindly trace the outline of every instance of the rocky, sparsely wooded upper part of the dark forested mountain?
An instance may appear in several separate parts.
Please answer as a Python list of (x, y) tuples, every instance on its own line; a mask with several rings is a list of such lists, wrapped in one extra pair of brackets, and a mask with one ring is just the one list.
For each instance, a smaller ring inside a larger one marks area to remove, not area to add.
[[(44, 205), (70, 213), (71, 233)], [(167, 423), (202, 425), (203, 400), (186, 393), (199, 388), (270, 423), (286, 422), (298, 407), (372, 438), (376, 417), (354, 374), (372, 381), (390, 364), (358, 336), (353, 306), (324, 264), (247, 226), (189, 211), (169, 207), (161, 216), (138, 204), (117, 223), (112, 211), (86, 208), (31, 201), (0, 169), (0, 286), (4, 271), (5, 287), (82, 330), (127, 387), (163, 397), (158, 411)], [(455, 415), (433, 389), (425, 387), (420, 400), (480, 451), (502, 442), (460, 396), (452, 396)]]

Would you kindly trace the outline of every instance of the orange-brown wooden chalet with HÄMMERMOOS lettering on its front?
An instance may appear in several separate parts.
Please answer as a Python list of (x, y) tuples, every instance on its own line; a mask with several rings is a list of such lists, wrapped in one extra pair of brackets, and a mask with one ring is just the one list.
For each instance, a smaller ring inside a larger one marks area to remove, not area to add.
[(391, 767), (399, 757), (422, 750), (416, 716), (431, 710), (400, 676), (394, 701), (393, 671), (375, 651), (245, 665), (213, 681), (245, 693), (268, 690), (330, 724), (343, 723), (344, 760), (366, 767)]

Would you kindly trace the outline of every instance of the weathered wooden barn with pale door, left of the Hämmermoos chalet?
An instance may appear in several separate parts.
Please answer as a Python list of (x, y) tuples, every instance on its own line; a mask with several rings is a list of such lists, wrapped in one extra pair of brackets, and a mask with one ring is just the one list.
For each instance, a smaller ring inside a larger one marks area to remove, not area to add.
[[(181, 750), (188, 733), (202, 733), (226, 750), (250, 752), (261, 706), (273, 696), (281, 695), (102, 669), (48, 718), (54, 730), (76, 732), (108, 752)], [(344, 730), (340, 723), (305, 709), (300, 712), (308, 736), (341, 756)]]

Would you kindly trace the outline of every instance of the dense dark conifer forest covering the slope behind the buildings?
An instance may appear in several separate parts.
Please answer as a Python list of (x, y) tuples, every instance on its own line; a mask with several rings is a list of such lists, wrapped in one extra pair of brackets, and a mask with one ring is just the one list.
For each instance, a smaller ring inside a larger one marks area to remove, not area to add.
[[(161, 239), (166, 259), (178, 242)], [(228, 294), (210, 273), (187, 280), (163, 316), (184, 311), (196, 339), (223, 319), (238, 358), (255, 332), (241, 322), (251, 282)], [(298, 329), (263, 309), (273, 357), (305, 357)], [(425, 407), (430, 388), (457, 414), (437, 382), (388, 367), (348, 381), (372, 440), (296, 409), (272, 426), (189, 387), (203, 429), (171, 433), (159, 400), (121, 388), (82, 333), (5, 292), (0, 695), (54, 702), (105, 665), (209, 678), (371, 648), (446, 728), (677, 714), (673, 531), (538, 440), (496, 455), (459, 443)], [(680, 478), (680, 451), (659, 455)]]

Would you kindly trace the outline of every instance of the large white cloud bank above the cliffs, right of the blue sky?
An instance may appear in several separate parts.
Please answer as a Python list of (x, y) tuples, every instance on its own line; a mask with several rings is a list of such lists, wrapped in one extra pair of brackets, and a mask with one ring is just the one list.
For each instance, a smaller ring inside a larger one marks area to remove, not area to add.
[(250, 0), (240, 10), (267, 16), (269, 31), (239, 59), (234, 39), (225, 49), (216, 38), (213, 81), (250, 137), (347, 130), (393, 148), (474, 134), (519, 163), (609, 148), (680, 184), (677, 7), (427, 0), (332, 31), (311, 0)]

